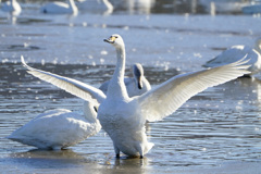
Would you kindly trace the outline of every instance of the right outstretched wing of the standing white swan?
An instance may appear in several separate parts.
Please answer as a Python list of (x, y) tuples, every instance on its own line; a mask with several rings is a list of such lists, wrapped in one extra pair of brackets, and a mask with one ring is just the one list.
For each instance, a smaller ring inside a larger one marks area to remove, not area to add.
[(162, 85), (140, 96), (138, 102), (146, 120), (153, 122), (175, 112), (189, 98), (203, 91), (208, 87), (216, 86), (235, 79), (249, 72), (247, 61), (202, 70), (195, 73), (177, 75)]

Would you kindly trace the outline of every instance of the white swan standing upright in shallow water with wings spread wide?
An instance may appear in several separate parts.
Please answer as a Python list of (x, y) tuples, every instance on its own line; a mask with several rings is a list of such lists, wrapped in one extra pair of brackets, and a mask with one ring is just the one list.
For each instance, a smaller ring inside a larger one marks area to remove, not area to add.
[(100, 103), (98, 120), (113, 141), (116, 157), (144, 157), (153, 146), (145, 133), (146, 121), (153, 122), (175, 112), (184, 102), (198, 92), (215, 85), (248, 74), (247, 61), (202, 70), (172, 77), (146, 94), (129, 98), (124, 85), (125, 46), (120, 35), (112, 35), (105, 41), (116, 49), (117, 63), (108, 87), (107, 96), (99, 89), (72, 78), (62, 77), (25, 65), (28, 73), (49, 82), (85, 100)]

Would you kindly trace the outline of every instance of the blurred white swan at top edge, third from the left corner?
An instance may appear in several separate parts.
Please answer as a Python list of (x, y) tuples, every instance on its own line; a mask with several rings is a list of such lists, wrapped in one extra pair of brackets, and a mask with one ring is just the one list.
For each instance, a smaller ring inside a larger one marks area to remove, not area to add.
[(76, 5), (82, 11), (102, 12), (104, 14), (111, 14), (113, 12), (113, 5), (109, 0), (79, 0)]

